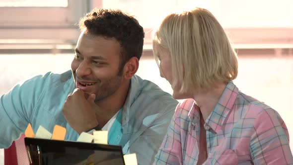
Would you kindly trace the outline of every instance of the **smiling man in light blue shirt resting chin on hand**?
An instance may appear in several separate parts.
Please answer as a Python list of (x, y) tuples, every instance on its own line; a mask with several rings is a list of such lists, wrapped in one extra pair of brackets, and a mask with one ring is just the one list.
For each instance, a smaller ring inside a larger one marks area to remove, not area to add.
[(135, 73), (144, 31), (120, 10), (93, 9), (80, 19), (72, 71), (47, 73), (16, 85), (0, 97), (0, 148), (7, 148), (28, 123), (67, 129), (66, 140), (81, 132), (108, 130), (108, 143), (136, 153), (151, 164), (177, 101)]

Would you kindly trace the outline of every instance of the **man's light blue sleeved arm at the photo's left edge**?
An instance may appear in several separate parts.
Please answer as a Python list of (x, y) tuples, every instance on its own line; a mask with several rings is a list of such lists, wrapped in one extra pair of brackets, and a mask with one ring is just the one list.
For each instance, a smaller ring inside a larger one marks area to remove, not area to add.
[(0, 97), (0, 148), (8, 148), (31, 122), (34, 105), (43, 89), (42, 80), (42, 76), (34, 77)]

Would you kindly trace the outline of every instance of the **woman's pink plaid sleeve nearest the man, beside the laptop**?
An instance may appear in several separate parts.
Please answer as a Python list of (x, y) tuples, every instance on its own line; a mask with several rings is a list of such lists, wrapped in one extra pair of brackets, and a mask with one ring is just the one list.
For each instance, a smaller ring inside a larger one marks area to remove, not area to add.
[[(180, 104), (180, 103), (179, 103)], [(170, 122), (168, 132), (155, 156), (154, 165), (182, 165), (182, 147), (180, 114), (182, 108), (176, 107), (176, 112)]]

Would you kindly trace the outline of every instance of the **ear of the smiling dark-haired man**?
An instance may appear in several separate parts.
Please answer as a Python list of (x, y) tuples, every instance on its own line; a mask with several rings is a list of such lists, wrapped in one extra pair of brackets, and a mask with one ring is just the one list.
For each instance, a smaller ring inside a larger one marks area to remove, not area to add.
[(128, 62), (124, 65), (124, 78), (130, 80), (138, 71), (139, 65), (140, 63), (137, 57), (132, 57), (129, 59)]

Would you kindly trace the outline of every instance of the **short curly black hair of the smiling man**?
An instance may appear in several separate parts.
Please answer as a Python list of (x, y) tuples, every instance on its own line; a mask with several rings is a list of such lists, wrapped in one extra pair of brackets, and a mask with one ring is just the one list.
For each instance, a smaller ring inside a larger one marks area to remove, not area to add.
[(97, 36), (115, 38), (121, 45), (119, 72), (132, 57), (141, 58), (144, 28), (138, 20), (121, 10), (94, 8), (79, 20), (79, 29)]

